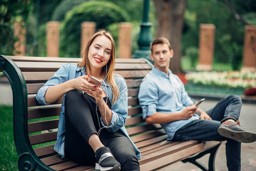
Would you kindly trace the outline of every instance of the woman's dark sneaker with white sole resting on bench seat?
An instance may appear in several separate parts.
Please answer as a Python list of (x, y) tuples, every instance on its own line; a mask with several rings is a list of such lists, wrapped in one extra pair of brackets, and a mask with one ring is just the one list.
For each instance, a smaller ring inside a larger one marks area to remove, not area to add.
[(115, 157), (107, 147), (100, 148), (101, 156), (99, 160), (96, 157), (95, 169), (97, 170), (109, 170), (109, 171), (119, 171), (121, 165), (116, 161)]

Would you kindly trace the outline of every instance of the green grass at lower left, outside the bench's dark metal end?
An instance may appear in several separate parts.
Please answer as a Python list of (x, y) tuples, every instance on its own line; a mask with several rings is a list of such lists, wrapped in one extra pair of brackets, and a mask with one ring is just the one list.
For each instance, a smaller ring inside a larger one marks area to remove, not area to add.
[(0, 170), (18, 170), (13, 139), (13, 107), (0, 105)]

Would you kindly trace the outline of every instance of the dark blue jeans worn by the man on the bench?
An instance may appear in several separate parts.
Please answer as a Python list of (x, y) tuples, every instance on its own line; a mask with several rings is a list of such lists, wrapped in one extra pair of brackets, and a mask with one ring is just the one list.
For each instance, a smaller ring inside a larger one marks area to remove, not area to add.
[(221, 120), (225, 117), (234, 117), (238, 120), (242, 107), (242, 100), (237, 95), (230, 95), (221, 100), (215, 107), (206, 113), (213, 120), (194, 120), (178, 129), (173, 141), (227, 141), (226, 158), (229, 170), (241, 170), (241, 143), (222, 137), (218, 133)]

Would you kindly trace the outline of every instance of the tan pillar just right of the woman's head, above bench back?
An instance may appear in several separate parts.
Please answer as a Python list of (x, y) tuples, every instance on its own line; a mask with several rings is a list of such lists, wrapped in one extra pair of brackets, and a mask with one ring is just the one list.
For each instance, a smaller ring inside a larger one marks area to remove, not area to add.
[(131, 58), (132, 55), (132, 24), (123, 22), (119, 24), (118, 58)]

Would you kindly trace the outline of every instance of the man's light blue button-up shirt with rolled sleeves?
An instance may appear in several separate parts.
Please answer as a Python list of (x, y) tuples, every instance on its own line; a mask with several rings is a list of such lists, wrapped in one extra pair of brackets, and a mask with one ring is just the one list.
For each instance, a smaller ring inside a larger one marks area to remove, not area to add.
[[(178, 76), (172, 74), (170, 70), (168, 70), (168, 75), (153, 67), (140, 84), (139, 101), (144, 119), (156, 112), (180, 112), (194, 103)], [(173, 121), (161, 124), (161, 126), (165, 129), (168, 140), (172, 140), (178, 129), (196, 119), (200, 119), (200, 116), (195, 114), (188, 120)]]

